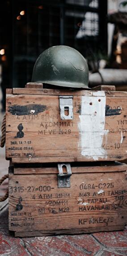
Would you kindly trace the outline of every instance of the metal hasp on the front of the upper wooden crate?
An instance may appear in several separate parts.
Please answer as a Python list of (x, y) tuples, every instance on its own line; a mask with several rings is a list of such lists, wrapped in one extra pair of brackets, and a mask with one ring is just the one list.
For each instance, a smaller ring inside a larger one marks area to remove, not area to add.
[[(73, 119), (73, 96), (59, 96), (60, 118), (71, 120)], [(68, 115), (65, 115), (65, 110), (68, 110)]]

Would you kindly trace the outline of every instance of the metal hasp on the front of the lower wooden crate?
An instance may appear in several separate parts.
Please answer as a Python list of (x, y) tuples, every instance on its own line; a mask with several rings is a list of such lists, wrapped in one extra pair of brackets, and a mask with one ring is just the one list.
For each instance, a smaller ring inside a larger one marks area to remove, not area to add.
[[(67, 173), (63, 173), (63, 166), (66, 166)], [(70, 188), (71, 187), (71, 178), (72, 175), (70, 163), (58, 163), (58, 188)]]

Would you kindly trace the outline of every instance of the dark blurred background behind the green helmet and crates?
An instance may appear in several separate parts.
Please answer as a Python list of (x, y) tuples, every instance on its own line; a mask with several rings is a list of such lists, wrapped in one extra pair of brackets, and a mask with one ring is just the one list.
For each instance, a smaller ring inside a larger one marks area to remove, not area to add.
[(1, 0), (0, 121), (5, 89), (25, 87), (38, 55), (59, 44), (86, 58), (90, 87), (127, 89), (127, 1)]

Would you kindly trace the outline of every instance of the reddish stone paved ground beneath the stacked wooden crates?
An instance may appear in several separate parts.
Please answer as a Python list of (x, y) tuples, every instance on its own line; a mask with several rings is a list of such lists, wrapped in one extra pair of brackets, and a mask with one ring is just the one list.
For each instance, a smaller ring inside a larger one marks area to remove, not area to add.
[[(0, 114), (0, 122), (3, 114)], [(0, 178), (8, 173), (5, 148), (0, 148)], [(0, 196), (8, 180), (0, 186)], [(81, 235), (14, 238), (8, 231), (8, 199), (0, 203), (1, 256), (127, 256), (127, 229)]]

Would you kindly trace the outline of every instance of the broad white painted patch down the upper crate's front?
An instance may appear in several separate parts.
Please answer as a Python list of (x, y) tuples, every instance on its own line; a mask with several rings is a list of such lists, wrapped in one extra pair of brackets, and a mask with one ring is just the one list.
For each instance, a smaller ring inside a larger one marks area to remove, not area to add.
[[(80, 147), (83, 156), (98, 160), (106, 159), (106, 150), (102, 148), (103, 137), (107, 136), (105, 128), (106, 96), (104, 91), (92, 92), (93, 96), (82, 96), (80, 123)], [(98, 96), (100, 95), (100, 96)], [(89, 103), (92, 103), (90, 105)]]

